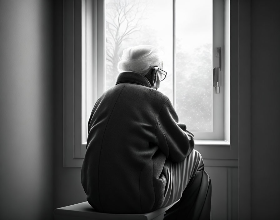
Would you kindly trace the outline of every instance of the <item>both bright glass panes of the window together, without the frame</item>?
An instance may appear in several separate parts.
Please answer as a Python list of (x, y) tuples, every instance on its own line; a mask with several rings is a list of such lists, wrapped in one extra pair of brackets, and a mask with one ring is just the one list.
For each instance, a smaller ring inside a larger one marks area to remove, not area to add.
[[(173, 102), (173, 1), (107, 0), (105, 90), (118, 77), (123, 49), (149, 44), (164, 52), (158, 89)], [(212, 1), (176, 0), (175, 103), (192, 132), (212, 132)]]

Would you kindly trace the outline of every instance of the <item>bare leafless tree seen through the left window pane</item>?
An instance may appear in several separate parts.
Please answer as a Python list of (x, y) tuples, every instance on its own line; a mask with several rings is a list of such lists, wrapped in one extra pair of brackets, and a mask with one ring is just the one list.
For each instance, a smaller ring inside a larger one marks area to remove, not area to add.
[(117, 65), (123, 49), (123, 42), (142, 28), (145, 7), (139, 0), (114, 0), (106, 5), (106, 60), (107, 77), (113, 83), (118, 75)]

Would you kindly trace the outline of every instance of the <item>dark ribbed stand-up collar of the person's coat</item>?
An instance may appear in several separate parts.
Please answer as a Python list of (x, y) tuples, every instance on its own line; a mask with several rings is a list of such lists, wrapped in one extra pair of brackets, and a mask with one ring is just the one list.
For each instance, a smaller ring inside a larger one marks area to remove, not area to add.
[(146, 77), (142, 76), (140, 73), (136, 73), (133, 71), (126, 71), (120, 73), (118, 75), (116, 85), (119, 83), (133, 83), (152, 88), (151, 83)]

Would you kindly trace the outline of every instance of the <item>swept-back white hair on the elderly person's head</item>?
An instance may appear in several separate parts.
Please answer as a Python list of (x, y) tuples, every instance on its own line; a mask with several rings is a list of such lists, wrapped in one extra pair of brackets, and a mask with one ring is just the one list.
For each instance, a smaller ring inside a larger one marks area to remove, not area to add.
[(163, 51), (150, 45), (138, 45), (123, 50), (123, 56), (118, 63), (118, 71), (133, 71), (142, 75), (154, 67), (163, 68)]

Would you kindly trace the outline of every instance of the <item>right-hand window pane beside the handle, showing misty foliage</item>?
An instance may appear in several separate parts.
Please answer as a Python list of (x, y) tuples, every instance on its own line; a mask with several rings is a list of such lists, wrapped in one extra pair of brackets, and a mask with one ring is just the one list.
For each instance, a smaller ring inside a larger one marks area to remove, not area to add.
[(193, 132), (212, 132), (212, 1), (176, 0), (176, 111)]

